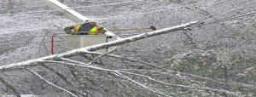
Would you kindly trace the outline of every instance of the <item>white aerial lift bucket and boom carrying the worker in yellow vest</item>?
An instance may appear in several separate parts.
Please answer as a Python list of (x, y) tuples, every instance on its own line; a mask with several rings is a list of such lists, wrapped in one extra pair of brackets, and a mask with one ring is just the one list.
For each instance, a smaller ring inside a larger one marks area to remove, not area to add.
[[(73, 20), (74, 23), (83, 23), (88, 21), (94, 21), (90, 20), (88, 17), (85, 17), (82, 14), (79, 14), (75, 10), (67, 7), (65, 4), (57, 1), (57, 0), (40, 0), (42, 3), (45, 3), (47, 6), (49, 6), (51, 9), (55, 9), (59, 13), (65, 15), (68, 19)], [(120, 37), (113, 34), (111, 31), (108, 31), (106, 28), (104, 28), (106, 32), (100, 33), (99, 35), (65, 35), (63, 37), (64, 43), (68, 48), (84, 48), (91, 45), (96, 45), (99, 43), (108, 43), (110, 41), (119, 39)], [(116, 48), (116, 47), (113, 47)], [(107, 48), (99, 50), (99, 52), (106, 52), (108, 49), (113, 48)], [(53, 54), (54, 49), (54, 36), (52, 37), (52, 44), (51, 44), (51, 52)]]

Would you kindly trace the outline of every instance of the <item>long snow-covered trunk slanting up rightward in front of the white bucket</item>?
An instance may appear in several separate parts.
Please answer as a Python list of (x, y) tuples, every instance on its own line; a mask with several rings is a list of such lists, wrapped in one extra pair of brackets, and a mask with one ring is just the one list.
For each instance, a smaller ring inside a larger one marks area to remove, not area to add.
[(141, 40), (141, 39), (144, 39), (147, 37), (154, 37), (154, 36), (158, 36), (160, 34), (166, 34), (166, 33), (173, 32), (173, 31), (181, 31), (181, 30), (188, 28), (191, 25), (196, 24), (197, 22), (198, 21), (193, 21), (193, 22), (189, 22), (189, 23), (186, 23), (186, 24), (183, 24), (180, 26), (173, 26), (170, 28), (165, 28), (165, 29), (161, 29), (161, 30), (157, 30), (157, 31), (146, 32), (146, 33), (143, 33), (143, 34), (140, 34), (137, 36), (121, 38), (119, 40), (115, 40), (115, 41), (112, 41), (109, 43), (100, 43), (100, 44), (96, 44), (96, 45), (89, 46), (89, 47), (73, 49), (71, 51), (61, 53), (61, 54), (53, 54), (53, 55), (45, 56), (45, 57), (38, 58), (35, 60), (26, 60), (26, 61), (19, 62), (19, 63), (0, 66), (0, 71), (9, 71), (9, 70), (17, 69), (17, 68), (24, 68), (27, 66), (38, 66), (38, 65), (40, 65), (39, 63), (44, 60), (55, 60), (55, 58), (61, 58), (61, 57), (63, 57), (63, 58), (72, 57), (72, 56), (79, 55), (79, 53), (86, 53), (89, 51), (96, 51), (96, 50), (102, 49), (102, 48), (117, 46), (119, 44), (131, 43), (131, 42), (135, 42), (137, 40)]

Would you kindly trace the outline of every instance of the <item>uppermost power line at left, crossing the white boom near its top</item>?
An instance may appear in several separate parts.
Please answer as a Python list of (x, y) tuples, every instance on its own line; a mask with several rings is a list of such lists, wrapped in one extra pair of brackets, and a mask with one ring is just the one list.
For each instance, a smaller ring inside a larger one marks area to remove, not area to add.
[[(90, 8), (90, 7), (117, 5), (117, 4), (121, 4), (121, 3), (132, 3), (132, 2), (143, 2), (143, 0), (120, 2), (120, 3), (107, 3), (107, 4), (103, 3), (103, 4), (99, 4), (99, 5), (91, 5), (91, 6), (70, 8), (70, 9), (84, 9), (84, 8)], [(16, 14), (37, 14), (37, 13), (53, 12), (53, 11), (59, 11), (59, 10), (66, 10), (66, 9), (51, 9), (51, 10), (42, 10), (42, 11), (36, 11), (36, 12), (24, 12), (24, 13), (16, 13)], [(0, 14), (0, 16), (7, 16), (7, 15), (15, 15), (15, 14)]]

